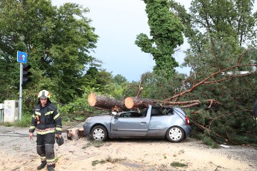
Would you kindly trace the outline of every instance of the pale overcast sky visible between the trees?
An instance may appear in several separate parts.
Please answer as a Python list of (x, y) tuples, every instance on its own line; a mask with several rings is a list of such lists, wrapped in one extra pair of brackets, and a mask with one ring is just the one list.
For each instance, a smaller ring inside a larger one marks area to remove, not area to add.
[[(52, 5), (59, 6), (66, 2), (76, 3), (88, 7), (86, 14), (96, 28), (99, 35), (97, 48), (91, 56), (103, 62), (102, 68), (111, 72), (113, 76), (121, 74), (128, 81), (140, 81), (141, 74), (153, 71), (154, 61), (149, 53), (143, 53), (135, 45), (136, 35), (149, 35), (146, 4), (140, 0), (52, 0)], [(191, 1), (179, 1), (189, 8)], [(183, 63), (183, 51), (189, 48), (184, 43), (180, 51), (173, 56), (179, 64)], [(189, 68), (176, 68), (179, 73), (189, 73)]]

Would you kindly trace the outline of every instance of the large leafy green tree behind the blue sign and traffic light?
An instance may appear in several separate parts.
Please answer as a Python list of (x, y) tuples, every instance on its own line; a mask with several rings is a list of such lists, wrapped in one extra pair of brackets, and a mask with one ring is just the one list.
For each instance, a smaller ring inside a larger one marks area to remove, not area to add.
[(6, 94), (10, 88), (17, 92), (16, 51), (24, 51), (33, 72), (33, 81), (27, 86), (31, 93), (25, 90), (24, 95), (36, 98), (36, 92), (45, 88), (61, 103), (81, 95), (85, 66), (94, 61), (90, 52), (98, 38), (87, 12), (70, 3), (58, 9), (49, 0), (1, 1), (0, 72), (8, 72), (9, 78), (0, 92)]

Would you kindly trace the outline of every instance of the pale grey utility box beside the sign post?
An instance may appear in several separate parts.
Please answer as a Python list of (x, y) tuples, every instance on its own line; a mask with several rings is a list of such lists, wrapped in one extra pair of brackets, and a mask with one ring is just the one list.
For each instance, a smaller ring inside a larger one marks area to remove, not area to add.
[(4, 123), (19, 119), (19, 100), (4, 100)]

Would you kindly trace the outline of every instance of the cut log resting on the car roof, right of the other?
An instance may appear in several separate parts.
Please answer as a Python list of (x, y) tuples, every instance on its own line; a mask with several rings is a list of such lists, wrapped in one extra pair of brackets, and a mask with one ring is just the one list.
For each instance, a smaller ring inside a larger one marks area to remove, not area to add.
[(148, 108), (148, 105), (154, 105), (158, 103), (158, 100), (153, 100), (150, 98), (136, 98), (128, 97), (125, 99), (126, 108)]

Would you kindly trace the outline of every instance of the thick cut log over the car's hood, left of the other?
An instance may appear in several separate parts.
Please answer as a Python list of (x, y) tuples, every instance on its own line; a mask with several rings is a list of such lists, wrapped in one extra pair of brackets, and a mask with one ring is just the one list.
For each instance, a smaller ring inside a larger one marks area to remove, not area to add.
[(94, 93), (90, 93), (88, 102), (90, 106), (96, 108), (109, 109), (113, 111), (122, 111), (127, 109), (125, 104), (119, 100), (114, 100), (113, 98), (102, 95), (96, 95)]

